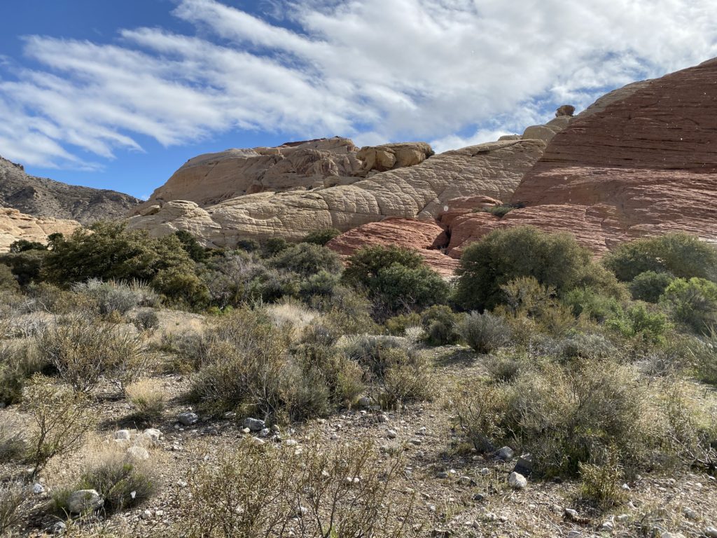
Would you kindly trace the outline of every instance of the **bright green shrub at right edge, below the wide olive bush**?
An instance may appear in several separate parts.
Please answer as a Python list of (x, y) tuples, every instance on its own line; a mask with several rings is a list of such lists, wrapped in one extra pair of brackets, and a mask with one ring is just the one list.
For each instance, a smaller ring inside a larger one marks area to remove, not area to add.
[(704, 278), (677, 278), (665, 289), (661, 299), (675, 321), (697, 332), (717, 324), (717, 284)]

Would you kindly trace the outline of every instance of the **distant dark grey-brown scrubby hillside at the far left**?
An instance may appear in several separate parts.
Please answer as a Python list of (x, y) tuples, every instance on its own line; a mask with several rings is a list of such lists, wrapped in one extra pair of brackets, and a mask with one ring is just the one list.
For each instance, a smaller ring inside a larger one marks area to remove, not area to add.
[(29, 176), (20, 164), (0, 157), (0, 207), (47, 219), (77, 220), (123, 218), (140, 200), (120, 192), (77, 187), (52, 179)]

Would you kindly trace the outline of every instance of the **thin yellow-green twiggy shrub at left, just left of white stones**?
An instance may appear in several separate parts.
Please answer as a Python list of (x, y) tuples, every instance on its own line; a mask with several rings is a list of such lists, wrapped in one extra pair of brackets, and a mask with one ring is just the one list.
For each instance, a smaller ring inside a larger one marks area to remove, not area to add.
[(34, 477), (54, 456), (80, 447), (92, 427), (94, 412), (84, 395), (57, 387), (39, 375), (32, 377), (25, 393), (24, 405), (34, 423), (27, 452)]

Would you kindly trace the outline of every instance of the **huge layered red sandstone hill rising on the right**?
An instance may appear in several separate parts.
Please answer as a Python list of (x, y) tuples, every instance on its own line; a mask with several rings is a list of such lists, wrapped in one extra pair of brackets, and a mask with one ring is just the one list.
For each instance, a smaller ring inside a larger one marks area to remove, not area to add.
[[(465, 214), (449, 253), (495, 227), (571, 232), (596, 253), (670, 231), (717, 240), (717, 60), (636, 82), (594, 103), (556, 134), (503, 219)], [(560, 118), (556, 118), (560, 119)]]

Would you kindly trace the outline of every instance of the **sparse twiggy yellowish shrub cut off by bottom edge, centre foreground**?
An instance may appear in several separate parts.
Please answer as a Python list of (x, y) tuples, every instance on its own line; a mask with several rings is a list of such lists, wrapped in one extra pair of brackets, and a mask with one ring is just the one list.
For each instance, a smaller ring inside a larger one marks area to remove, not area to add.
[(243, 440), (189, 477), (189, 537), (407, 535), (413, 498), (398, 499), (402, 461), (370, 443), (323, 450)]

